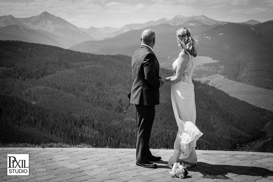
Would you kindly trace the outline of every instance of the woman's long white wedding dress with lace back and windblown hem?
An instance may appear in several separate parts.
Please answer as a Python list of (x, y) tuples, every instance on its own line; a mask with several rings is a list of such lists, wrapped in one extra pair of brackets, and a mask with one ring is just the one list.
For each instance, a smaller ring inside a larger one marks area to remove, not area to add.
[[(174, 142), (174, 154), (170, 157), (168, 166), (182, 160), (197, 163), (195, 152), (196, 141), (203, 133), (195, 126), (196, 109), (194, 101), (194, 85), (191, 81), (197, 59), (190, 56), (190, 61), (185, 65), (182, 79), (171, 84), (171, 99), (174, 116), (178, 126), (177, 136)], [(173, 63), (176, 72), (177, 60)]]

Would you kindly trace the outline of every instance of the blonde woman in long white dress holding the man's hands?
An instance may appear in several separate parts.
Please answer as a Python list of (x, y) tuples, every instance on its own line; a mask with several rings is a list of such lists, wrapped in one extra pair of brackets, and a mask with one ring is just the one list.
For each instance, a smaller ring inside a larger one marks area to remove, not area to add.
[(162, 79), (165, 83), (172, 83), (171, 99), (178, 126), (174, 154), (168, 166), (172, 167), (175, 162), (179, 162), (190, 168), (197, 163), (196, 141), (203, 135), (195, 126), (194, 85), (191, 81), (197, 63), (197, 42), (187, 28), (181, 28), (177, 30), (177, 43), (182, 51), (173, 63), (174, 75)]

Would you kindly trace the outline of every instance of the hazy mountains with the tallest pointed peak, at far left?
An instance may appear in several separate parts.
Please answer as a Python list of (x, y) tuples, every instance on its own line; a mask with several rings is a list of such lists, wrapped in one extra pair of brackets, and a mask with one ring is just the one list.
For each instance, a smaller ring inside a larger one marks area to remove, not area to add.
[[(40, 15), (30, 18), (15, 18), (12, 15), (1, 16), (0, 32), (2, 32), (1, 40), (6, 40), (7, 37), (11, 37), (10, 40), (27, 38), (28, 42), (56, 45), (63, 48), (69, 48), (83, 41), (95, 40), (75, 25), (48, 12), (42, 12)], [(14, 38), (12, 39), (12, 37)]]

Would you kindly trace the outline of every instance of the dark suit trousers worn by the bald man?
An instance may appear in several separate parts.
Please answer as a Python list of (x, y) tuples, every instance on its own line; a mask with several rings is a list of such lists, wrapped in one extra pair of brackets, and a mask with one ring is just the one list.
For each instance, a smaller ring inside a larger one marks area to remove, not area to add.
[(150, 136), (155, 117), (155, 106), (136, 106), (136, 123), (137, 123), (137, 139), (136, 139), (136, 162), (145, 163), (147, 157), (151, 157), (150, 152)]

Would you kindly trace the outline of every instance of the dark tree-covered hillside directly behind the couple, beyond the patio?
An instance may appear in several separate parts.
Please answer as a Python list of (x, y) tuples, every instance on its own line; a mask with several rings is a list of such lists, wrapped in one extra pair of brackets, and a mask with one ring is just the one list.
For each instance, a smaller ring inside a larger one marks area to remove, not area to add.
[[(172, 71), (160, 69), (160, 74)], [(131, 85), (130, 56), (1, 41), (0, 143), (135, 148), (135, 109), (127, 98)], [(197, 149), (237, 150), (272, 137), (272, 112), (200, 82), (194, 85), (196, 125), (204, 133)], [(173, 148), (176, 133), (166, 83), (160, 88), (150, 147)], [(272, 152), (272, 144), (265, 144), (255, 151)]]

